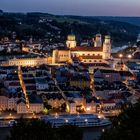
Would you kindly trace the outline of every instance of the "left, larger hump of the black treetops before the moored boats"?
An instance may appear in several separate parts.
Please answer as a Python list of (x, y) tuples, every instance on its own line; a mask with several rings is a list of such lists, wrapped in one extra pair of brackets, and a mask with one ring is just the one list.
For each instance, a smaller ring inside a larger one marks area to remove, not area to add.
[(51, 125), (43, 121), (20, 119), (11, 129), (8, 140), (54, 140), (53, 133)]

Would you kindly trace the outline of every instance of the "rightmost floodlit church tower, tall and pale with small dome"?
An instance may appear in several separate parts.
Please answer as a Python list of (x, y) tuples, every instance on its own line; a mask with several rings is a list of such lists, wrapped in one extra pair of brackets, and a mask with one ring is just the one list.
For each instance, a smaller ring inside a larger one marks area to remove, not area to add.
[(110, 36), (106, 35), (103, 43), (103, 59), (111, 58), (111, 41)]

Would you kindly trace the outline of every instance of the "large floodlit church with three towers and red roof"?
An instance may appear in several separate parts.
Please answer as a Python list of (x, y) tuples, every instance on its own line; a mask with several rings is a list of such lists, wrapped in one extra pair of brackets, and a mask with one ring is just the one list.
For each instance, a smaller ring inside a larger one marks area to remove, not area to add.
[(93, 46), (77, 46), (74, 35), (69, 35), (66, 41), (66, 50), (57, 49), (53, 51), (52, 63), (71, 62), (79, 60), (83, 63), (102, 63), (111, 59), (110, 36), (97, 34)]

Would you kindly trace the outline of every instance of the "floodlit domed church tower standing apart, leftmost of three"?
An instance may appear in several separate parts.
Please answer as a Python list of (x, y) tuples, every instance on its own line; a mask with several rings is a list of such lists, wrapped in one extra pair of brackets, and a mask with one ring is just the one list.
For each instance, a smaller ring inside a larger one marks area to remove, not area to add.
[(76, 47), (76, 40), (74, 35), (68, 35), (66, 45), (70, 49)]

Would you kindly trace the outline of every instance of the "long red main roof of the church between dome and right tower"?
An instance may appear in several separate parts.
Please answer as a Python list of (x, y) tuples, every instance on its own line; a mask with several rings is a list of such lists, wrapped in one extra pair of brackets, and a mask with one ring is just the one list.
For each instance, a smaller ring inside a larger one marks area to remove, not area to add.
[(94, 51), (94, 52), (102, 52), (103, 47), (81, 47), (77, 46), (75, 48), (72, 48), (71, 51)]

